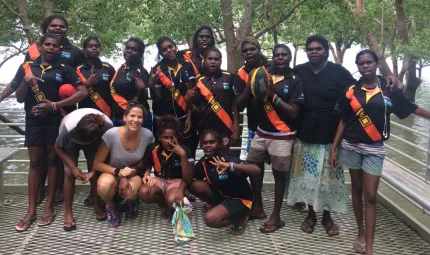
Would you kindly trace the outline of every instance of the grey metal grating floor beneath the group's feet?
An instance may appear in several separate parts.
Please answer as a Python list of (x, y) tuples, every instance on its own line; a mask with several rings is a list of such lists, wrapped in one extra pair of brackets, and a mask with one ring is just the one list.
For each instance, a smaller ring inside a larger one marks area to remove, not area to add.
[[(347, 214), (334, 215), (341, 228), (337, 237), (328, 237), (321, 224), (313, 234), (302, 232), (300, 223), (306, 214), (287, 206), (282, 210), (283, 229), (261, 234), (258, 228), (263, 221), (253, 221), (244, 235), (232, 236), (226, 233), (227, 228), (206, 227), (202, 203), (196, 202), (190, 217), (196, 239), (176, 246), (171, 225), (161, 219), (155, 205), (142, 203), (135, 221), (122, 221), (118, 229), (109, 229), (106, 222), (95, 220), (92, 208), (83, 206), (85, 196), (75, 197), (76, 231), (63, 231), (64, 205), (60, 205), (51, 226), (37, 227), (35, 222), (27, 232), (18, 233), (15, 224), (26, 211), (27, 198), (6, 195), (14, 201), (0, 207), (0, 254), (355, 254), (351, 248), (356, 235), (351, 201)], [(273, 193), (266, 191), (263, 198), (266, 212), (271, 212)], [(38, 215), (42, 210), (39, 206)], [(375, 238), (375, 254), (430, 254), (430, 244), (380, 204)]]

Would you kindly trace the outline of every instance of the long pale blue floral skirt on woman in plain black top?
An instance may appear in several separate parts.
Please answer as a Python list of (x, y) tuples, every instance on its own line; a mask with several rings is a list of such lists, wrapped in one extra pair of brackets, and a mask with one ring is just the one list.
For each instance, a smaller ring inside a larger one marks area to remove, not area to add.
[[(294, 145), (287, 203), (305, 202), (315, 211), (346, 212), (344, 170), (338, 163), (334, 171), (329, 162), (331, 144)], [(339, 158), (339, 157), (338, 157)]]

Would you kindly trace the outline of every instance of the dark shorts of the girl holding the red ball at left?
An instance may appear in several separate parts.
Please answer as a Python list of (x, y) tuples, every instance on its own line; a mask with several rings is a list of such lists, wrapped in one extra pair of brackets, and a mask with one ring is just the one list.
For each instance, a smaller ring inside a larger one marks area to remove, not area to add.
[(25, 147), (54, 145), (59, 126), (25, 126)]

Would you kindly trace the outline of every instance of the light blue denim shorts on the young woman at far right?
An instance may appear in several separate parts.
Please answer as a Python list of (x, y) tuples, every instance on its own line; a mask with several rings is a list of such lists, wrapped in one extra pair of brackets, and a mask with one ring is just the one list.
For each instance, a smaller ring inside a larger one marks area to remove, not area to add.
[(349, 169), (363, 169), (364, 172), (381, 176), (384, 156), (361, 154), (353, 150), (342, 148), (340, 162)]

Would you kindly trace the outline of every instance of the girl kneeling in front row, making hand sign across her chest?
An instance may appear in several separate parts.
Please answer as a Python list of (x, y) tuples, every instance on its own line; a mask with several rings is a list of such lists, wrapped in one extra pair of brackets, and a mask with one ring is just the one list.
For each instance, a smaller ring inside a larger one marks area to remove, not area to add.
[(206, 130), (201, 135), (200, 147), (205, 156), (194, 167), (195, 180), (190, 190), (212, 205), (205, 214), (205, 223), (211, 228), (233, 225), (230, 233), (241, 235), (245, 232), (253, 200), (246, 177), (258, 175), (260, 169), (223, 153), (221, 137), (214, 130)]

